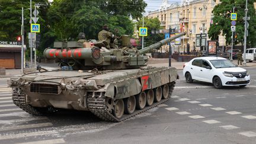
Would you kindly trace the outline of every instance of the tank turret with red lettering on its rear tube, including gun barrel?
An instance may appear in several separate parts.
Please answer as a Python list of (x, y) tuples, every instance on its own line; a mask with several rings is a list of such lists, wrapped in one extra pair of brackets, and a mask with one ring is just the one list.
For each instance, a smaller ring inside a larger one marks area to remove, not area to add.
[[(177, 34), (141, 50), (132, 49), (128, 46), (127, 40), (125, 46), (119, 46), (118, 49), (107, 49), (104, 47), (104, 41), (91, 41), (84, 44), (76, 41), (57, 42), (55, 49), (44, 50), (44, 57), (59, 59), (62, 66), (72, 66), (73, 69), (133, 69), (146, 66), (148, 57), (143, 54), (184, 35), (185, 33)], [(127, 39), (127, 37), (124, 38)]]

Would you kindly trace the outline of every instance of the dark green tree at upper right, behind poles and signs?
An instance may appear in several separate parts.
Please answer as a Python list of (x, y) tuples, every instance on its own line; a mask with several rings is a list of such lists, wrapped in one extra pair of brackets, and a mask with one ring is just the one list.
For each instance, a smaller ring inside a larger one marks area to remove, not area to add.
[[(255, 15), (255, 8), (254, 8), (254, 1), (248, 1), (248, 16), (251, 17), (251, 20), (248, 21), (249, 28), (248, 28), (248, 45), (256, 46), (255, 41), (255, 34), (256, 34), (256, 27), (254, 23), (256, 22), (256, 15)], [(231, 44), (231, 13), (233, 11), (233, 7), (240, 7), (236, 8), (235, 12), (237, 15), (236, 21), (236, 33), (238, 35), (237, 43), (244, 42), (244, 20), (243, 17), (245, 16), (245, 1), (244, 0), (220, 0), (220, 3), (216, 5), (213, 9), (213, 24), (210, 26), (209, 29), (209, 37), (212, 40), (217, 40), (218, 36), (222, 34), (226, 37), (226, 43)]]

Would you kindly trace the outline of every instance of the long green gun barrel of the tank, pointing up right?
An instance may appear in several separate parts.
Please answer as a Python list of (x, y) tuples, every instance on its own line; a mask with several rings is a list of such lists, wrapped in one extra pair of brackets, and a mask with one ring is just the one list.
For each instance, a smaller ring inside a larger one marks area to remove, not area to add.
[(144, 53), (148, 53), (149, 51), (151, 51), (153, 49), (158, 49), (159, 47), (163, 46), (164, 44), (167, 44), (167, 43), (171, 42), (172, 40), (177, 39), (178, 37), (184, 36), (185, 34), (186, 33), (183, 32), (183, 33), (175, 35), (174, 37), (170, 37), (170, 38), (158, 41), (157, 43), (152, 44), (151, 46), (145, 47), (145, 49), (139, 50), (139, 55), (142, 55)]

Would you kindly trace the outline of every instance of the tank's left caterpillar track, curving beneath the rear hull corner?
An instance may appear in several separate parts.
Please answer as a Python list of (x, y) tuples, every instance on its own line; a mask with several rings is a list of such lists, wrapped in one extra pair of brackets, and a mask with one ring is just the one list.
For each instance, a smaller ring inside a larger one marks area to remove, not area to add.
[(12, 101), (14, 102), (15, 105), (23, 109), (25, 112), (35, 115), (35, 116), (43, 116), (40, 111), (38, 111), (36, 108), (32, 107), (31, 105), (27, 104), (25, 101), (25, 94), (24, 92), (13, 92), (12, 93)]

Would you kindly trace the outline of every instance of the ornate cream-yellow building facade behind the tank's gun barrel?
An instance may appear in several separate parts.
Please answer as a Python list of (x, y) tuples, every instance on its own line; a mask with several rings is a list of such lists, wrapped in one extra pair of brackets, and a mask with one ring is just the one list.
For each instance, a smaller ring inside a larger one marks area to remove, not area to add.
[[(181, 3), (168, 4), (167, 0), (164, 0), (158, 10), (149, 12), (148, 18), (158, 18), (165, 29), (175, 28), (187, 32), (181, 37), (180, 45), (172, 46), (172, 52), (187, 53), (188, 50), (191, 52), (194, 49), (206, 50), (206, 46), (196, 46), (196, 34), (207, 34), (210, 24), (213, 23), (212, 10), (218, 2), (219, 0), (216, 2), (214, 0), (181, 0)], [(207, 40), (209, 40), (208, 36), (205, 44)], [(224, 44), (225, 37), (219, 36), (219, 45)]]

